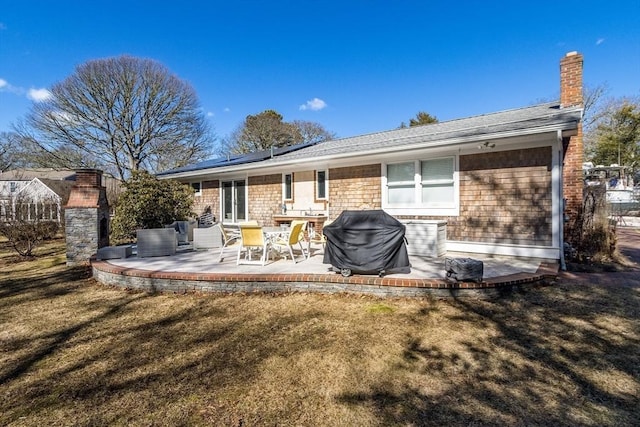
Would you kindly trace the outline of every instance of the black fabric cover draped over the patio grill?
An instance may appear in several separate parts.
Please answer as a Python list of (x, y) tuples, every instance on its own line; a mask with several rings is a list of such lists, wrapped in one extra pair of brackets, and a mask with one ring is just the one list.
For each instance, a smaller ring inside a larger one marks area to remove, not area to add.
[(354, 273), (409, 273), (405, 226), (382, 210), (343, 211), (324, 227), (324, 264)]

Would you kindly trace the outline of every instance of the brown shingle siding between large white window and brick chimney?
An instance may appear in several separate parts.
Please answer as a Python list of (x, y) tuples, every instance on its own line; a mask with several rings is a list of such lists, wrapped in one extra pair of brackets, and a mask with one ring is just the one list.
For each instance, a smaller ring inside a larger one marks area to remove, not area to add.
[(460, 215), (420, 218), (448, 240), (549, 246), (551, 194), (551, 147), (460, 156)]

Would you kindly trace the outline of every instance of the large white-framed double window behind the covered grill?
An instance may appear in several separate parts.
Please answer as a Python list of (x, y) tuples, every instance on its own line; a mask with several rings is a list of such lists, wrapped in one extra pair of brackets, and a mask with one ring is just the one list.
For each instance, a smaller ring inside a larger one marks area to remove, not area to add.
[(382, 176), (382, 207), (391, 214), (459, 214), (456, 156), (383, 164)]

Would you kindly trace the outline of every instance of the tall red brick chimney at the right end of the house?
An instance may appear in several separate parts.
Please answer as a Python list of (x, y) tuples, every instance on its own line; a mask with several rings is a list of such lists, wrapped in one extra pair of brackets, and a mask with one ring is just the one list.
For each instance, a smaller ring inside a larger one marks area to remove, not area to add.
[[(578, 52), (569, 52), (560, 60), (560, 108), (583, 108), (582, 93), (583, 57)], [(565, 227), (565, 239), (571, 241), (576, 220), (582, 212), (584, 181), (582, 163), (582, 121), (574, 135), (563, 138), (563, 197), (566, 200), (565, 214), (569, 221)]]

